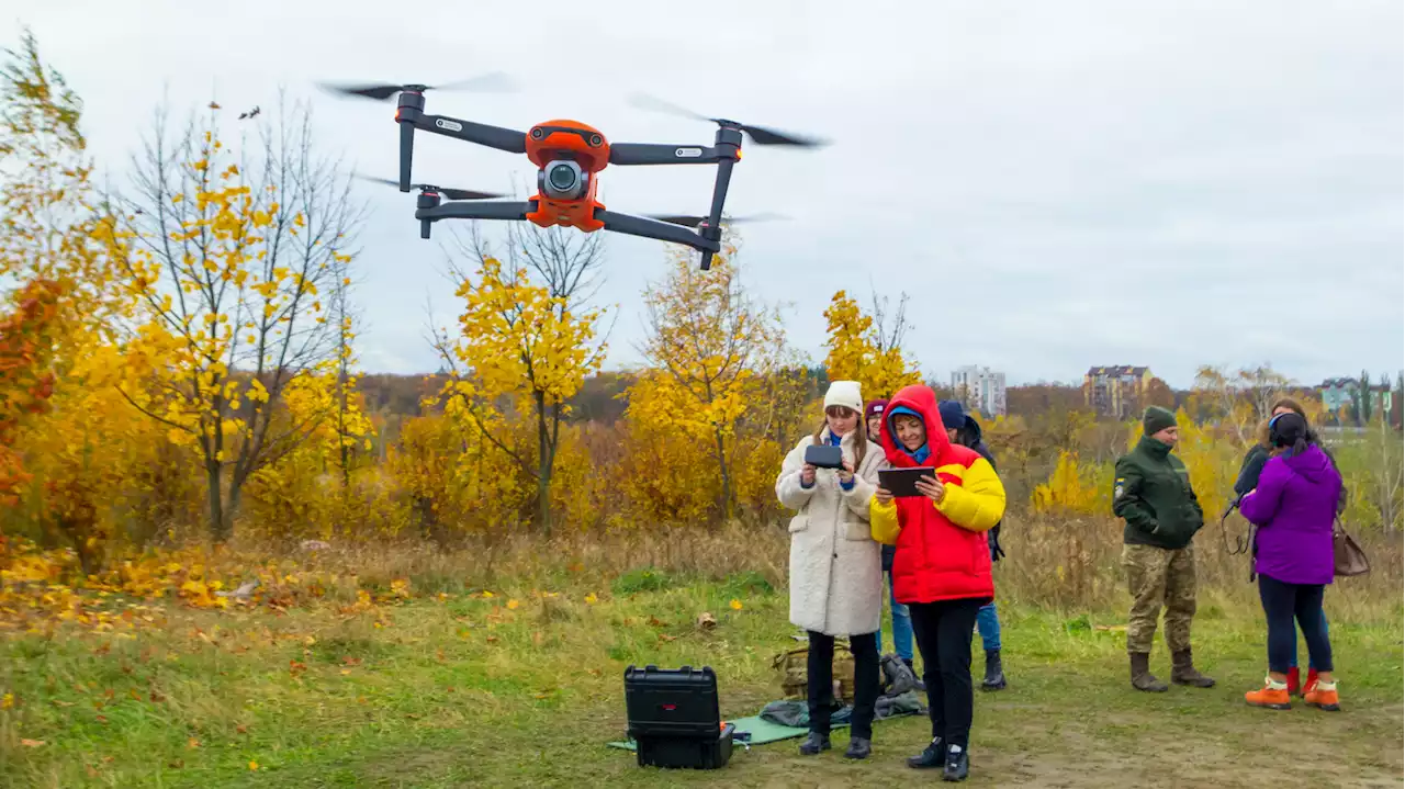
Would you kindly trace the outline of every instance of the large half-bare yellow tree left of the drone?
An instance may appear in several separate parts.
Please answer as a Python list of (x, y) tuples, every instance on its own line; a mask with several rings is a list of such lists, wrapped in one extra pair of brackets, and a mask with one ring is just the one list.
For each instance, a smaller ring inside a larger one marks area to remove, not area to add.
[(170, 133), (159, 112), (103, 233), (140, 302), (125, 341), (157, 392), (129, 400), (197, 453), (216, 542), (233, 533), (250, 476), (334, 416), (275, 418), (299, 376), (340, 365), (322, 299), (344, 278), (361, 218), (341, 163), (316, 150), (306, 105), (247, 121), (237, 152), (223, 118), (211, 102)]

